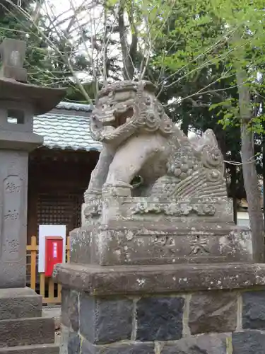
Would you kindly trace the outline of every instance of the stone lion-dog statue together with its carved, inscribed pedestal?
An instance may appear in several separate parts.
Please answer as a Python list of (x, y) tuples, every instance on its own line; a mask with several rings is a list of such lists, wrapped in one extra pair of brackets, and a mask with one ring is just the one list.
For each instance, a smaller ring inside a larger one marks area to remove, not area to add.
[(123, 81), (99, 93), (91, 130), (103, 148), (82, 227), (71, 234), (71, 261), (252, 261), (252, 235), (233, 222), (215, 135), (188, 139), (154, 92), (149, 82)]

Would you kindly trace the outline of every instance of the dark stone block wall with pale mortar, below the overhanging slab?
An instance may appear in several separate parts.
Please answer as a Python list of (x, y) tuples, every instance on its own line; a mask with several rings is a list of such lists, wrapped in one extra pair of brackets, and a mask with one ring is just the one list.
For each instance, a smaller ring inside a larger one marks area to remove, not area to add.
[(61, 354), (265, 353), (264, 290), (62, 299)]

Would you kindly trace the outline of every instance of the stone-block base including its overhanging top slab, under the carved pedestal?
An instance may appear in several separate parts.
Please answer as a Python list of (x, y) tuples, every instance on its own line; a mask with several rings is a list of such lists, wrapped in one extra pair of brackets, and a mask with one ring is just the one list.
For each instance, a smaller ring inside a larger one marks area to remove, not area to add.
[[(155, 270), (151, 283), (147, 269), (145, 272), (141, 268), (140, 277), (131, 267), (124, 267), (123, 274), (112, 267), (102, 270), (102, 282), (114, 280), (120, 285), (119, 290), (128, 290), (122, 293), (112, 287), (112, 294), (110, 288), (101, 287), (100, 273), (98, 278), (88, 278), (88, 273), (80, 268), (77, 272), (73, 265), (68, 265), (68, 270), (69, 267), (72, 273), (69, 272), (68, 286), (63, 273), (66, 265), (57, 267), (57, 278), (64, 279), (61, 354), (265, 353), (265, 265), (244, 265), (239, 269), (231, 264), (223, 274), (223, 265), (204, 265), (204, 271), (202, 265), (200, 269), (187, 268), (186, 278), (182, 275), (181, 279), (188, 291), (176, 285), (180, 280), (177, 266), (176, 278), (173, 276), (171, 282), (165, 276), (168, 267), (163, 277), (161, 266), (162, 278), (157, 283), (153, 278)], [(201, 284), (194, 282), (194, 289), (192, 283), (187, 285), (191, 269)], [(131, 273), (137, 277), (138, 291), (131, 282)]]

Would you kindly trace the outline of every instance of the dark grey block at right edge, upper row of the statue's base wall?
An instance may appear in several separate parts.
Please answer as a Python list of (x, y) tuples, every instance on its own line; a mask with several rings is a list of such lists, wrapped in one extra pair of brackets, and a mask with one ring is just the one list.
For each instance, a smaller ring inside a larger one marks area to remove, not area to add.
[(242, 292), (243, 329), (265, 329), (265, 291)]

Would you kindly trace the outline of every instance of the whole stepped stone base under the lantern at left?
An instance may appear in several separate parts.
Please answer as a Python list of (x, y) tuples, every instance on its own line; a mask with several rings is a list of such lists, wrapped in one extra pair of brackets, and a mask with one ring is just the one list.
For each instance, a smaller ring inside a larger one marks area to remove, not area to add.
[(28, 287), (0, 289), (1, 353), (59, 353), (54, 319), (42, 318), (42, 297)]

